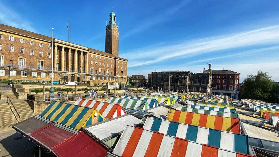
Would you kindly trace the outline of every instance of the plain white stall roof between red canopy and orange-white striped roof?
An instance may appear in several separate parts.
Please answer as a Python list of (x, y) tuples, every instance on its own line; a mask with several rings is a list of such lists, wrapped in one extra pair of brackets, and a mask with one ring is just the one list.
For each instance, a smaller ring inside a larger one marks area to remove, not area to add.
[(132, 116), (131, 114), (125, 114), (116, 118), (105, 120), (93, 125), (83, 127), (86, 132), (89, 132), (99, 138), (99, 140), (105, 142), (119, 133), (122, 133), (127, 125), (137, 126), (144, 121)]

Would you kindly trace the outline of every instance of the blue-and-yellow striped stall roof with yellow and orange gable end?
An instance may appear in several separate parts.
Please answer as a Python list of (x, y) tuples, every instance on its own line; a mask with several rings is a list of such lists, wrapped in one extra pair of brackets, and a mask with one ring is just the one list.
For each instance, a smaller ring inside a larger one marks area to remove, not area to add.
[(56, 101), (53, 101), (40, 116), (77, 130), (105, 120), (95, 109)]

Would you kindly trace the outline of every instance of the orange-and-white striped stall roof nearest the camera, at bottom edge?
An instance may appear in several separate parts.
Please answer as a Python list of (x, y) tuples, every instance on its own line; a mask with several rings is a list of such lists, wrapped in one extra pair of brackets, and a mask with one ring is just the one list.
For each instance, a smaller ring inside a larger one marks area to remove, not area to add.
[(193, 157), (243, 157), (247, 154), (224, 150), (190, 140), (164, 135), (143, 128), (126, 126), (113, 154), (118, 156), (193, 156)]

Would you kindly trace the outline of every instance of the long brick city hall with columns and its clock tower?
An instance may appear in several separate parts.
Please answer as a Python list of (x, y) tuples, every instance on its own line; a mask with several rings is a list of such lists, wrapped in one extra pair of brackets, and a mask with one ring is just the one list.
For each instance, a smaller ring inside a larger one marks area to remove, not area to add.
[[(105, 52), (0, 24), (0, 78), (22, 81), (89, 82), (126, 85), (128, 60), (118, 56), (118, 26), (110, 13)], [(53, 76), (51, 58), (53, 52)]]

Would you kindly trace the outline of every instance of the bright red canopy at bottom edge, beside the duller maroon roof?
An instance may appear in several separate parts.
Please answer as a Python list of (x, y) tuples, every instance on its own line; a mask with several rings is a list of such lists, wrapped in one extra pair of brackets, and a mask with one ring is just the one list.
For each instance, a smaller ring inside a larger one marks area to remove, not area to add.
[(107, 149), (83, 131), (51, 148), (56, 156), (106, 156)]

